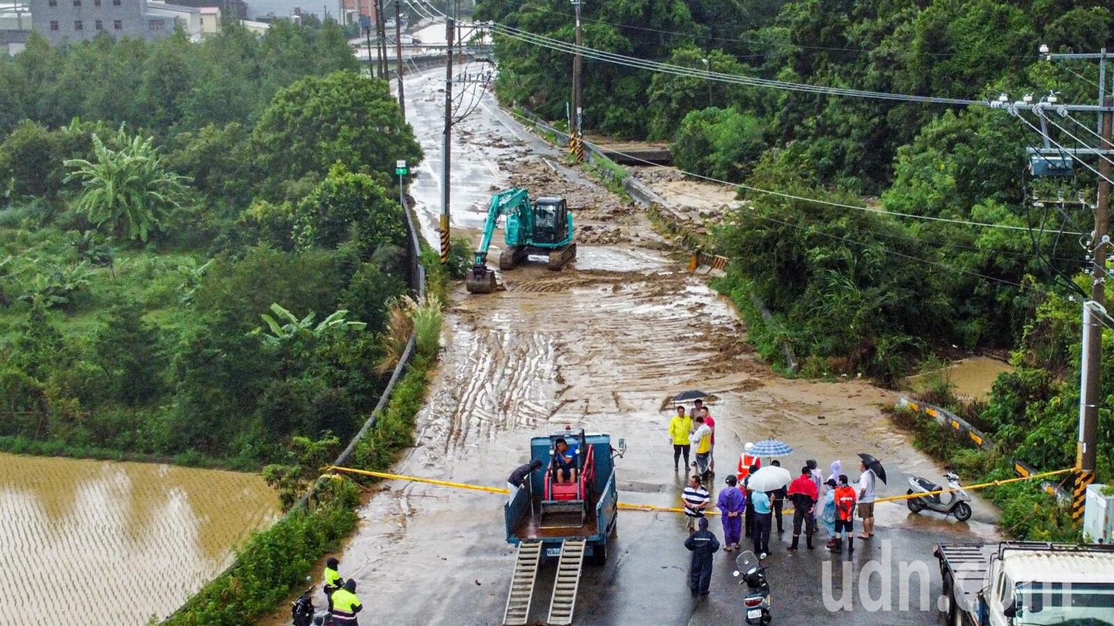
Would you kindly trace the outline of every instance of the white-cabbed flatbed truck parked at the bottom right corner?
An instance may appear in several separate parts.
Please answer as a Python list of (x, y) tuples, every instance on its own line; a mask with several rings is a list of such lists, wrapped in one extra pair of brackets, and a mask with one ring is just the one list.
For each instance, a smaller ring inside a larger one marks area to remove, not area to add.
[(940, 544), (949, 626), (1114, 626), (1114, 546)]

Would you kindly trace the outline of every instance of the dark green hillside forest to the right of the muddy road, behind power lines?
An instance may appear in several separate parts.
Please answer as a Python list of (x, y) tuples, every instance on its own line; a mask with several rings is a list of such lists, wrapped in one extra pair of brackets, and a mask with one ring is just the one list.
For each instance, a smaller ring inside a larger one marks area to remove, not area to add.
[[(935, 355), (1009, 354), (1017, 369), (988, 402), (954, 408), (1035, 467), (1074, 463), (1097, 179), (1078, 163), (1067, 177), (1033, 176), (1026, 149), (1042, 144), (1039, 123), (987, 105), (1000, 94), (1096, 104), (1096, 61), (1049, 61), (1038, 49), (1114, 49), (1108, 2), (603, 0), (582, 11), (584, 45), (596, 50), (899, 95), (709, 80), (592, 56), (583, 70), (586, 133), (668, 141), (680, 169), (739, 186), (743, 208), (710, 238), (731, 260), (717, 286), (765, 356), (776, 362), (788, 342), (804, 375), (897, 385)], [(574, 41), (573, 8), (560, 0), (481, 0), (477, 16)], [(571, 56), (506, 30), (496, 56), (504, 104), (563, 124)], [(1094, 113), (1052, 117), (1052, 141), (1096, 141)], [(1100, 480), (1114, 458), (1111, 345), (1107, 334)]]

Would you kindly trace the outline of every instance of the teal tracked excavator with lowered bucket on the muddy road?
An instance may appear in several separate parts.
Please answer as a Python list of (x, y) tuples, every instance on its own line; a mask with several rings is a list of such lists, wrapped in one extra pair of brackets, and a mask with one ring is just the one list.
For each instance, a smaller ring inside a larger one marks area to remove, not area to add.
[(487, 266), (487, 253), (499, 217), (505, 215), (506, 247), (499, 254), (499, 270), (514, 270), (529, 255), (545, 254), (549, 268), (559, 272), (566, 263), (576, 258), (573, 214), (565, 198), (544, 197), (531, 204), (529, 194), (520, 187), (499, 192), (488, 203), (483, 237), (476, 250), (476, 261), (465, 277), (465, 287), (469, 293), (491, 293), (496, 290), (495, 272)]

